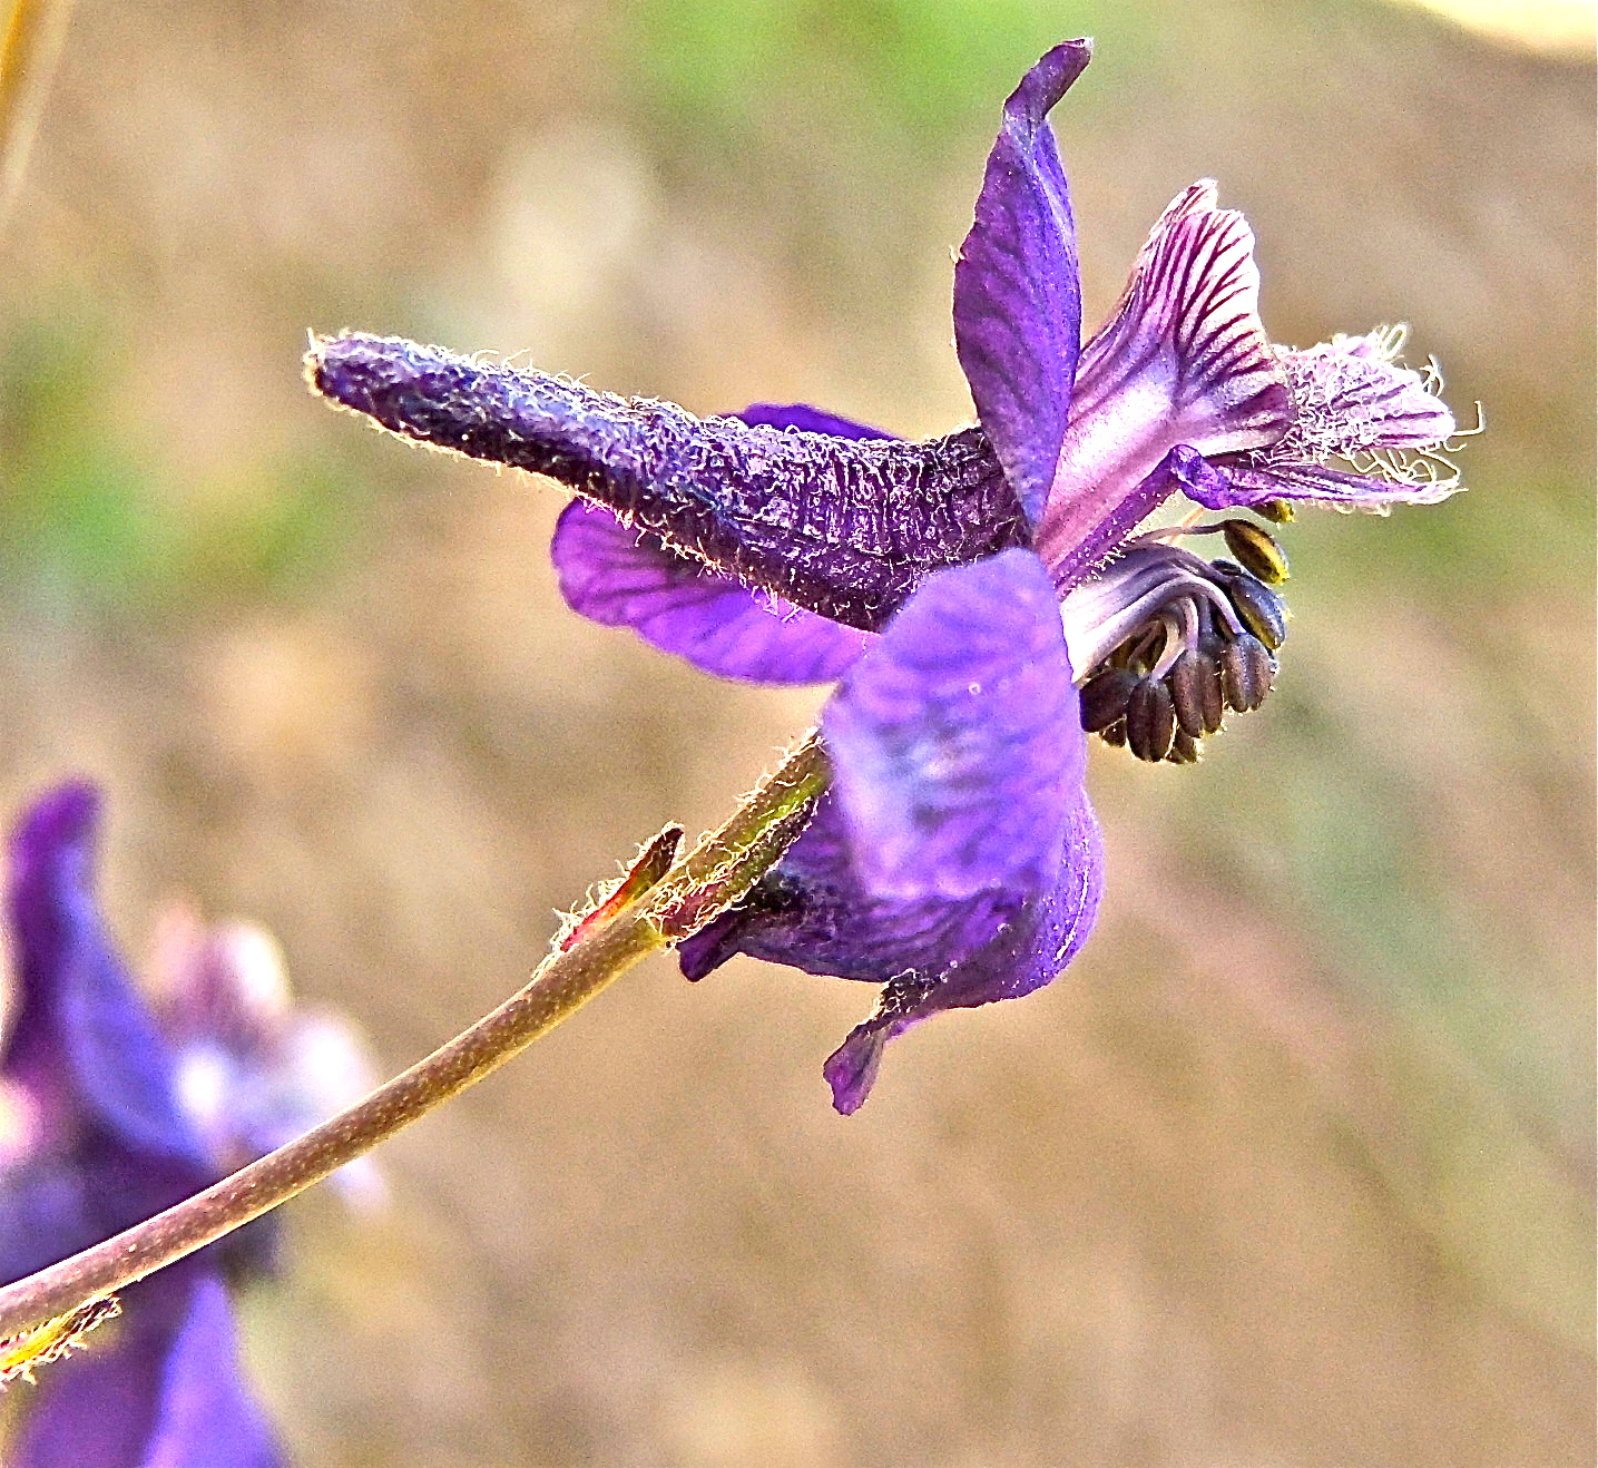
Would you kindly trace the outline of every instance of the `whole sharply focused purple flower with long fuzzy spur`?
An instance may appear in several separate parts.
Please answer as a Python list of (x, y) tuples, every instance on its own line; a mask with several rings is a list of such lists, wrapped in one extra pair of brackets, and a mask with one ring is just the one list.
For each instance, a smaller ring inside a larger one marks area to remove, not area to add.
[[(316, 390), (385, 429), (551, 475), (582, 499), (553, 556), (578, 612), (706, 672), (837, 678), (833, 788), (749, 899), (681, 945), (882, 985), (826, 1063), (853, 1111), (882, 1047), (943, 1009), (1024, 995), (1093, 924), (1103, 854), (1085, 732), (1191, 763), (1275, 675), (1285, 558), (1203, 510), (1425, 504), (1456, 485), (1435, 377), (1401, 334), (1272, 345), (1243, 217), (1194, 184), (1111, 320), (1080, 339), (1066, 176), (1048, 110), (1088, 42), (1004, 109), (954, 272), (976, 425), (904, 443), (813, 408), (695, 419), (390, 337), (310, 355)], [(1170, 496), (1197, 507), (1138, 533)], [(1237, 560), (1181, 542), (1224, 534)]]

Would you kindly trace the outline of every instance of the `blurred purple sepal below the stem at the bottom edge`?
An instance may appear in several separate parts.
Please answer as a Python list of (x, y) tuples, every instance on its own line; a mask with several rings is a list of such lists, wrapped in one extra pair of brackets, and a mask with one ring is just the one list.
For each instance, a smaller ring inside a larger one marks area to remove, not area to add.
[[(214, 1270), (184, 1260), (123, 1295), (123, 1318), (40, 1375), (13, 1468), (276, 1468), (240, 1375)], [(113, 1334), (115, 1332), (115, 1334)]]

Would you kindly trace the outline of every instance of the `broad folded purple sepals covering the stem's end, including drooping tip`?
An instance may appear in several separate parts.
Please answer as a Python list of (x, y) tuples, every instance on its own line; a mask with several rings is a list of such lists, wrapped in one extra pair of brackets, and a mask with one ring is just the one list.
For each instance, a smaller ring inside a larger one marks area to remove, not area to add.
[(943, 571), (823, 713), (833, 790), (745, 904), (679, 947), (884, 983), (828, 1062), (853, 1111), (882, 1046), (940, 1009), (1015, 998), (1069, 963), (1103, 891), (1085, 737), (1048, 572), (1028, 552)]

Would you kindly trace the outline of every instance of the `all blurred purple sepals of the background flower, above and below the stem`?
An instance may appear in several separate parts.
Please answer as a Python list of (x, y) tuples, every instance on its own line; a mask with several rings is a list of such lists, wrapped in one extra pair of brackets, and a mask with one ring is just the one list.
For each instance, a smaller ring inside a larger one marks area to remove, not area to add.
[[(91, 870), (97, 824), (94, 790), (72, 784), (40, 800), (11, 838), (0, 1281), (99, 1243), (219, 1175), (179, 1105), (166, 1039), (105, 934)], [(219, 1247), (131, 1286), (120, 1319), (42, 1374), (10, 1444), (11, 1468), (283, 1462), (240, 1370)]]

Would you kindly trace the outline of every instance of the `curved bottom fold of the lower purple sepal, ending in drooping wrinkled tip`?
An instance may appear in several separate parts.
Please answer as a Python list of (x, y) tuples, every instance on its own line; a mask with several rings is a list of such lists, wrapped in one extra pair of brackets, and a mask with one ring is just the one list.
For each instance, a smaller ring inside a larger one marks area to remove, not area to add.
[(1104, 846), (1087, 790), (1079, 788), (1066, 824), (1056, 881), (1026, 900), (986, 947), (936, 982), (890, 980), (876, 1014), (849, 1031), (821, 1073), (844, 1116), (871, 1092), (887, 1043), (944, 1009), (1016, 999), (1053, 980), (1088, 940), (1104, 894)]

